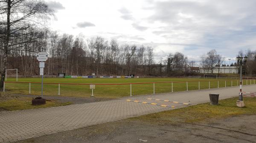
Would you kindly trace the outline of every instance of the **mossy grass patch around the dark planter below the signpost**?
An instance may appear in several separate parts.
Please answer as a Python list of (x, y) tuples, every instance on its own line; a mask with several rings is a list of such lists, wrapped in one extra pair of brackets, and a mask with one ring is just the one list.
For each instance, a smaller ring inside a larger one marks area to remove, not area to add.
[(46, 108), (46, 107), (56, 107), (65, 106), (73, 104), (72, 102), (61, 103), (55, 100), (47, 100), (44, 105), (32, 105), (32, 98), (20, 97), (20, 96), (8, 96), (8, 98), (0, 101), (0, 109), (7, 111), (24, 110), (24, 109), (35, 109), (35, 108)]

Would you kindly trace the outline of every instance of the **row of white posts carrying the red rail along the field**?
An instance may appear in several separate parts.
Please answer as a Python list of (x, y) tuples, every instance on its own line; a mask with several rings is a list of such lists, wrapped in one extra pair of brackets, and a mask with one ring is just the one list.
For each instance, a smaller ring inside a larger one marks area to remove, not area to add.
[[(196, 81), (192, 81), (192, 82), (196, 82)], [(205, 81), (203, 81), (205, 82)], [(172, 93), (173, 93), (173, 82), (172, 83)], [(243, 81), (242, 81), (243, 84)], [(246, 80), (246, 85), (248, 84), (248, 81)], [(250, 79), (250, 84), (252, 84), (252, 80)], [(253, 84), (255, 84), (255, 79), (253, 79)], [(225, 87), (227, 86), (227, 81), (225, 81)], [(238, 85), (238, 80), (236, 81), (236, 86)], [(231, 81), (231, 87), (233, 87), (233, 81)], [(219, 88), (219, 81), (218, 81), (218, 88)], [(210, 81), (209, 81), (209, 89), (210, 89)], [(198, 81), (198, 90), (200, 90), (200, 81)], [(186, 91), (189, 91), (188, 88), (188, 82), (186, 81)], [(5, 82), (3, 83), (3, 92), (5, 92)], [(31, 83), (29, 82), (29, 94), (31, 94)], [(93, 93), (92, 93), (93, 94)], [(155, 94), (155, 83), (153, 83), (153, 94)], [(58, 84), (58, 95), (60, 94), (60, 84)], [(131, 84), (130, 84), (130, 96), (131, 95)]]

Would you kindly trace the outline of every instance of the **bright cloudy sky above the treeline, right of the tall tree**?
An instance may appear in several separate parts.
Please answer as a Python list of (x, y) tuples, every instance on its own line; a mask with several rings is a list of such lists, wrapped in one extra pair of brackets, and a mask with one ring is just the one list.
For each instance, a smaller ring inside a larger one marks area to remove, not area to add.
[(215, 49), (235, 62), (256, 50), (256, 0), (46, 0), (60, 34), (102, 36), (154, 48), (159, 61), (181, 52), (199, 61)]

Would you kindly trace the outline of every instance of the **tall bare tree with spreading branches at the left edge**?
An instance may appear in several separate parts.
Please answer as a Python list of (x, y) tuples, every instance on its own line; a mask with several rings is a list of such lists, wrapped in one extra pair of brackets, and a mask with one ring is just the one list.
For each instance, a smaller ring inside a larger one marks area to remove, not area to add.
[(23, 49), (23, 44), (36, 42), (38, 36), (25, 39), (24, 37), (35, 34), (35, 31), (27, 31), (27, 29), (44, 23), (43, 20), (49, 18), (52, 10), (41, 0), (2, 0), (0, 14), (0, 35), (3, 40), (3, 45), (0, 46), (3, 50), (0, 87), (3, 87), (9, 51), (30, 50)]

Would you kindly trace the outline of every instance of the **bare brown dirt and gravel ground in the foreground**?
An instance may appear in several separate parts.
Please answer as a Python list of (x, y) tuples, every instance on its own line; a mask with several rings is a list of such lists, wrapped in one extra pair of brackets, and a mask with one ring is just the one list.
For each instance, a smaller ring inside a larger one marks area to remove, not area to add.
[(121, 120), (16, 143), (256, 143), (256, 115), (201, 123), (150, 124)]

